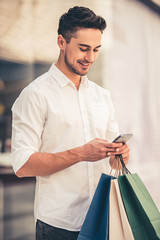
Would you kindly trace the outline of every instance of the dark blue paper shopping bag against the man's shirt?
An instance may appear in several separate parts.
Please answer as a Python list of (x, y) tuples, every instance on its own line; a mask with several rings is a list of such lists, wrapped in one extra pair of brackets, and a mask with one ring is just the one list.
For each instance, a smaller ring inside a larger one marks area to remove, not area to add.
[(78, 240), (109, 239), (109, 193), (112, 178), (102, 173)]

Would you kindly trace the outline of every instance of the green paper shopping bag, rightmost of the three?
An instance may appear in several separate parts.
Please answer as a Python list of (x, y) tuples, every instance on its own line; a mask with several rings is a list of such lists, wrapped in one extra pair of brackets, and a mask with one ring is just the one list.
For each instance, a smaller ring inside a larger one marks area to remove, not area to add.
[(139, 176), (119, 176), (118, 182), (134, 238), (160, 239), (160, 212)]

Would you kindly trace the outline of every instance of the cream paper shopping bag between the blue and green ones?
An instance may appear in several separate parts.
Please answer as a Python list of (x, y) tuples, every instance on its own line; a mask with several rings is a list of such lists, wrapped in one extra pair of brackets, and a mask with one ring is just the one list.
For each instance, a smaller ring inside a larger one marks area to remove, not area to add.
[(110, 188), (109, 240), (134, 240), (117, 179), (111, 181)]

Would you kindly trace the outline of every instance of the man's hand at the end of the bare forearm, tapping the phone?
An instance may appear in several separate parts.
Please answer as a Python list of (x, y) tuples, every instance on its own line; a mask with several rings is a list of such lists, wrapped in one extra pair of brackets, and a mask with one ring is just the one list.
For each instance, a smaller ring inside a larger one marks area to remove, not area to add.
[(80, 161), (95, 162), (109, 156), (119, 154), (122, 143), (109, 143), (107, 140), (96, 138), (79, 148)]

